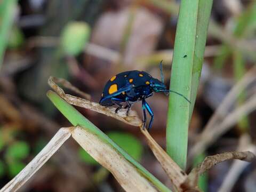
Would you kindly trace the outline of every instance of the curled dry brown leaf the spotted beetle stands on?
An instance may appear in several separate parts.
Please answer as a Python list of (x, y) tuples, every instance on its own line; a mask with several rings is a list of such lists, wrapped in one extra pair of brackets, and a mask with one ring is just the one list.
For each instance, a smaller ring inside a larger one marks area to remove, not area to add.
[[(130, 124), (133, 126), (142, 125), (141, 119), (139, 118), (138, 114), (134, 110), (129, 111), (129, 116), (126, 116), (126, 109), (121, 109), (118, 111), (118, 113), (115, 113), (116, 108), (114, 108), (114, 107), (101, 106), (97, 102), (92, 102), (92, 101), (89, 101), (86, 99), (75, 97), (70, 94), (65, 94), (65, 92), (55, 82), (64, 83), (63, 85), (66, 85), (67, 88), (69, 88), (69, 89), (71, 88), (71, 90), (73, 90), (75, 92), (77, 92), (79, 90), (64, 79), (60, 79), (60, 78), (56, 78), (56, 77), (50, 77), (48, 79), (48, 84), (52, 87), (52, 89), (55, 92), (57, 92), (57, 94), (59, 94), (62, 99), (64, 99), (71, 105), (83, 107), (86, 109), (96, 111), (101, 114), (105, 114), (107, 116), (116, 118), (119, 121), (122, 121), (124, 123)], [(81, 94), (81, 91), (79, 91), (78, 93)], [(87, 94), (83, 93), (83, 95), (87, 95)]]

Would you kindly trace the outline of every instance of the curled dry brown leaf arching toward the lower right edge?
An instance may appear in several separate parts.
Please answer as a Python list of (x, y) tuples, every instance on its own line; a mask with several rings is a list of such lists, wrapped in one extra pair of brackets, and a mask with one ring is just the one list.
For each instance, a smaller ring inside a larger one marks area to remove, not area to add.
[(198, 164), (189, 174), (186, 181), (182, 184), (183, 189), (191, 189), (197, 186), (199, 175), (211, 169), (214, 165), (227, 161), (229, 159), (239, 159), (242, 161), (252, 162), (255, 155), (251, 151), (239, 152), (226, 152), (222, 154), (212, 155), (205, 157), (204, 161)]

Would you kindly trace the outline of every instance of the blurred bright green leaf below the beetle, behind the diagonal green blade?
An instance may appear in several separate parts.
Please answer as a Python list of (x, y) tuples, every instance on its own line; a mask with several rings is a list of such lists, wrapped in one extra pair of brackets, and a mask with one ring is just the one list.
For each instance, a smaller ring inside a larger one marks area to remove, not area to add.
[(143, 147), (140, 141), (129, 133), (109, 132), (108, 137), (117, 143), (127, 154), (131, 155), (135, 160), (140, 161)]

